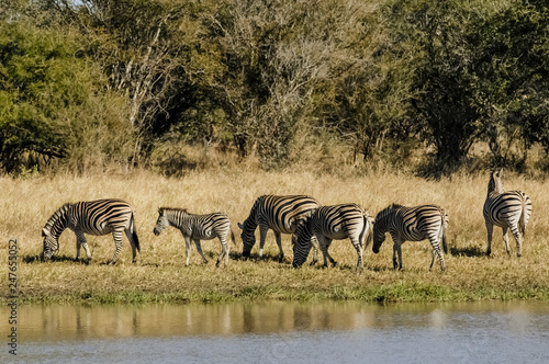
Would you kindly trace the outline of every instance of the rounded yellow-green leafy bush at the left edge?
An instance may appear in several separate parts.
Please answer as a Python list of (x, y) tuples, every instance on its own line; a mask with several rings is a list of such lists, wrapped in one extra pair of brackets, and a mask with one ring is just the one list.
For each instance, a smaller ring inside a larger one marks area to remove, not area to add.
[(3, 169), (18, 173), (59, 158), (82, 171), (90, 162), (123, 159), (132, 138), (124, 106), (78, 55), (78, 36), (18, 23), (0, 24), (0, 34)]

